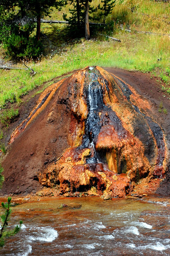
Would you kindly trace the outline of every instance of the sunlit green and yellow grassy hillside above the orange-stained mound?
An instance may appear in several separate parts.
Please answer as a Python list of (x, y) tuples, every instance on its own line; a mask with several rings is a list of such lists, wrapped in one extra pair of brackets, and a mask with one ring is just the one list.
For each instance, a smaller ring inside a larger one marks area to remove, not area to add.
[[(98, 0), (93, 2), (95, 6), (99, 4)], [(63, 12), (68, 13), (68, 8), (69, 5), (60, 12), (51, 11), (51, 18), (47, 18), (62, 20)], [(44, 81), (88, 65), (151, 72), (164, 82), (162, 89), (170, 93), (169, 18), (169, 3), (117, 0), (112, 14), (106, 20), (108, 23), (112, 22), (114, 26), (105, 26), (102, 31), (93, 29), (89, 41), (85, 41), (84, 38), (70, 38), (68, 25), (43, 23), (41, 30), (45, 34), (45, 52), (36, 61), (27, 63), (36, 71), (35, 76), (30, 76), (29, 71), (25, 70), (1, 69), (0, 107), (5, 107), (9, 101), (20, 104), (22, 95)], [(116, 37), (121, 42), (100, 34)], [(2, 60), (4, 63), (8, 62), (3, 45), (0, 47)], [(14, 66), (25, 68), (22, 61), (15, 63)]]

